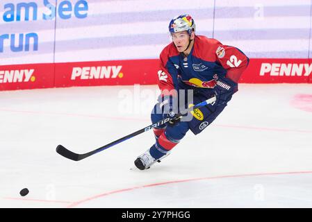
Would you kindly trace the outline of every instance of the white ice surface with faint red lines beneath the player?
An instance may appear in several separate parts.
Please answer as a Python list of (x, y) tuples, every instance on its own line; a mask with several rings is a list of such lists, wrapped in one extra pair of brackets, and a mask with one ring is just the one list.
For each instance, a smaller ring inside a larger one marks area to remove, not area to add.
[(156, 89), (0, 92), (0, 207), (312, 207), (308, 84), (240, 84), (215, 122), (146, 171), (131, 168), (152, 131), (79, 162), (56, 153), (58, 144), (86, 153), (148, 126)]

